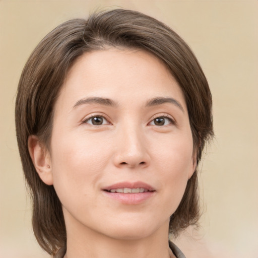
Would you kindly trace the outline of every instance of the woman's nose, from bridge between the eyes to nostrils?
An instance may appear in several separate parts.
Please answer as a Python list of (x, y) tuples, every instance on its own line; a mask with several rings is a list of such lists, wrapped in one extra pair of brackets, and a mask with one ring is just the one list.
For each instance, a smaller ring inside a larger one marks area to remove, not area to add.
[(137, 126), (124, 126), (116, 134), (114, 164), (117, 167), (147, 167), (150, 164), (148, 143)]

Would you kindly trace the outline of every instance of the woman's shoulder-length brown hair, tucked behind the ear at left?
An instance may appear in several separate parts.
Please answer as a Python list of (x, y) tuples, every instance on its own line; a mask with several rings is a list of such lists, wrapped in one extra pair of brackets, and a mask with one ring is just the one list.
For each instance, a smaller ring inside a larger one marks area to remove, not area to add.
[[(35, 170), (28, 138), (35, 135), (49, 148), (53, 108), (68, 70), (83, 53), (110, 46), (146, 50), (169, 69), (184, 94), (197, 164), (205, 144), (213, 136), (212, 97), (206, 77), (190, 48), (168, 26), (142, 13), (123, 9), (94, 13), (87, 20), (74, 19), (57, 26), (26, 62), (15, 108), (18, 147), (33, 203), (33, 230), (38, 243), (49, 254), (66, 248), (66, 226), (54, 187), (43, 183)], [(170, 218), (169, 232), (174, 236), (198, 222), (197, 188), (196, 169)]]

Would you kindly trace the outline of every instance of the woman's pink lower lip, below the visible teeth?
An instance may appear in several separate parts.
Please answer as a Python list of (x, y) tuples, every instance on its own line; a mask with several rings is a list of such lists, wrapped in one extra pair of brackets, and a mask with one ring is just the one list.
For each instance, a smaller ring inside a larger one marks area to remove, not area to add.
[(117, 200), (122, 204), (140, 204), (150, 199), (155, 191), (139, 192), (139, 193), (120, 193), (103, 191), (106, 196)]

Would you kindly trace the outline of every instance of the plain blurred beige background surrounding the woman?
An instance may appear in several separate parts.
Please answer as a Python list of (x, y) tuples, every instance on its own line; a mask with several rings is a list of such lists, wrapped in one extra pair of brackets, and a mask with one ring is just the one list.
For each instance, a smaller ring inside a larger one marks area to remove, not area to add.
[(15, 94), (25, 61), (59, 23), (111, 5), (142, 11), (177, 31), (196, 53), (213, 93), (216, 140), (200, 176), (202, 227), (195, 238), (186, 232), (178, 245), (188, 258), (257, 258), (257, 0), (0, 0), (0, 257), (48, 257), (32, 234), (15, 139)]

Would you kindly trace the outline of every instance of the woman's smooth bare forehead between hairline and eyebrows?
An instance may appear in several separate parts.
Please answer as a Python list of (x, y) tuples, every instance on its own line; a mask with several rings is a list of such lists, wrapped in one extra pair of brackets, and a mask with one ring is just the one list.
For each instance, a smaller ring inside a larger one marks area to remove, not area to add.
[(56, 105), (73, 106), (83, 97), (117, 98), (117, 102), (175, 97), (184, 103), (165, 64), (139, 49), (96, 50), (80, 56), (68, 72)]

